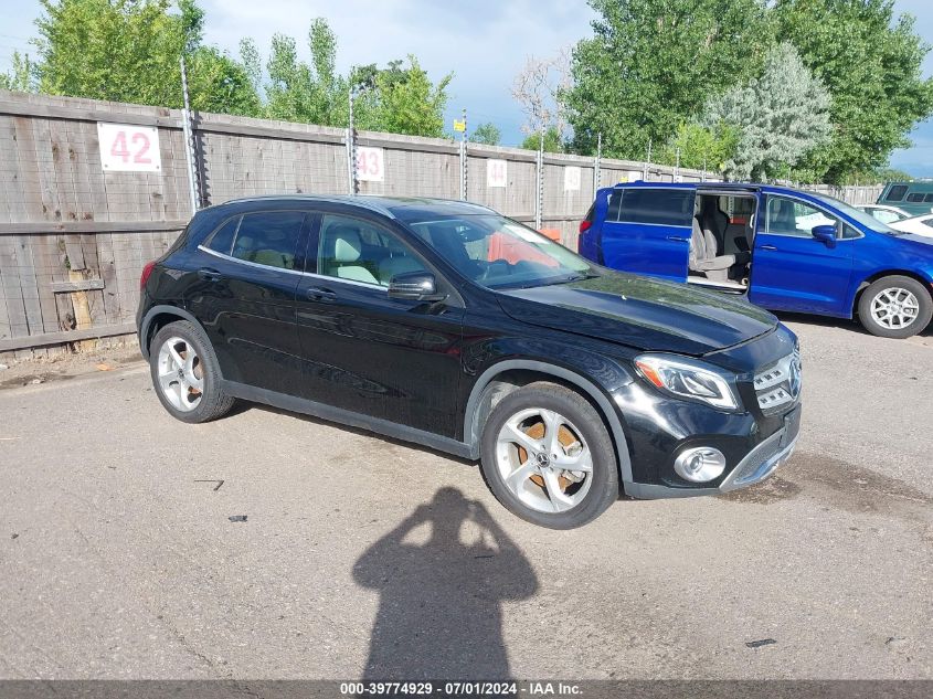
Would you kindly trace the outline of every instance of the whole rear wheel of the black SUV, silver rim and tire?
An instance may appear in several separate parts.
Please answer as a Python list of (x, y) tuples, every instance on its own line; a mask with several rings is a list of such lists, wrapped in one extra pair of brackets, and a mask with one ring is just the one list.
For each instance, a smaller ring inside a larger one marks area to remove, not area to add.
[(167, 325), (152, 338), (149, 371), (162, 406), (182, 422), (216, 420), (233, 407), (234, 399), (221, 388), (210, 340), (187, 320)]

